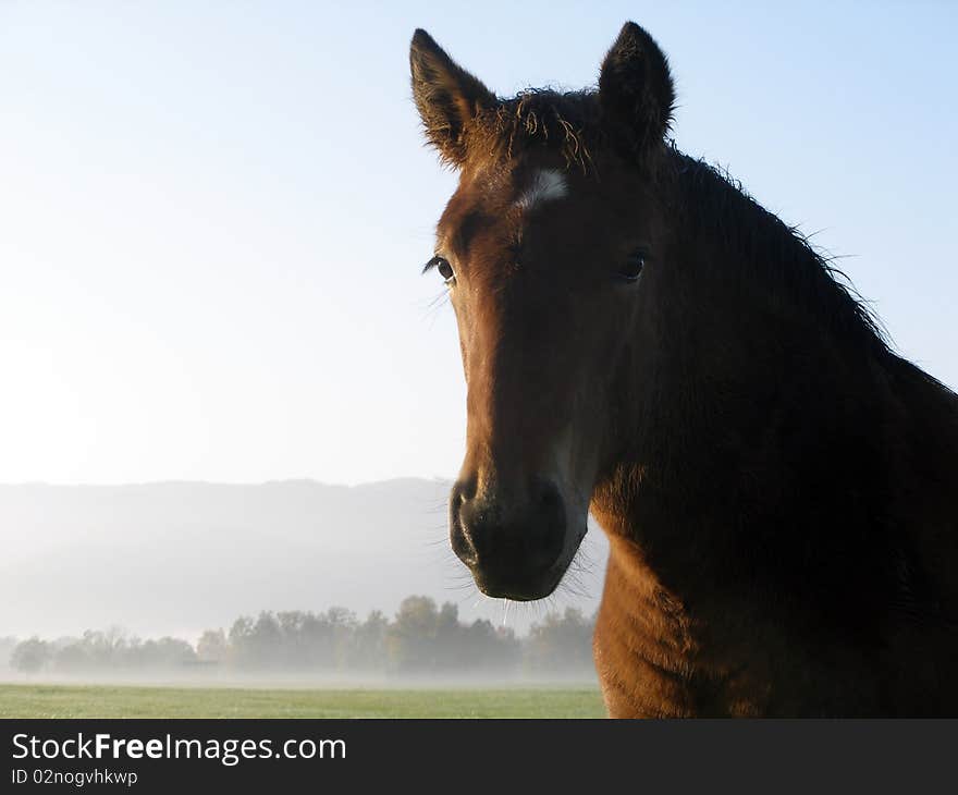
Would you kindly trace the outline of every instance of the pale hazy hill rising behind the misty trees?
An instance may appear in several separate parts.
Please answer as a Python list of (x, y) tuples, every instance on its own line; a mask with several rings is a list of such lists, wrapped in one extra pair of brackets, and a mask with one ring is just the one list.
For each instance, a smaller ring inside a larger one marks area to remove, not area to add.
[[(504, 603), (449, 548), (447, 490), (415, 478), (0, 486), (0, 636), (119, 625), (189, 637), (260, 610), (392, 614), (410, 594), (500, 623)], [(605, 540), (593, 529), (584, 547), (591, 571), (554, 609), (598, 604)], [(546, 607), (512, 604), (506, 624), (524, 632)]]

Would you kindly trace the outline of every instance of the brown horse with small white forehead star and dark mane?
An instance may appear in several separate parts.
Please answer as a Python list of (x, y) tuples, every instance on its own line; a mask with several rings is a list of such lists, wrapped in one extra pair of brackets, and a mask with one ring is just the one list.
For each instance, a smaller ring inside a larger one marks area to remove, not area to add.
[(452, 547), (490, 596), (611, 539), (609, 712), (958, 715), (958, 397), (796, 231), (667, 143), (627, 24), (595, 90), (502, 99), (422, 30), (459, 172), (428, 269), (468, 386)]

